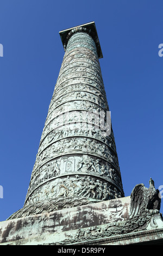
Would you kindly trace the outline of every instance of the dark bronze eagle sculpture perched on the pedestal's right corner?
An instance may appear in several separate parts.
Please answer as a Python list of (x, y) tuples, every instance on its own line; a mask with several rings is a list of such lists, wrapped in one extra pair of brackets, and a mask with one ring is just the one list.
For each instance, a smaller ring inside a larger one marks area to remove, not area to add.
[(158, 214), (160, 211), (161, 198), (159, 190), (154, 187), (152, 178), (149, 180), (149, 188), (143, 184), (138, 184), (131, 192), (130, 218), (136, 215), (148, 212), (149, 214)]

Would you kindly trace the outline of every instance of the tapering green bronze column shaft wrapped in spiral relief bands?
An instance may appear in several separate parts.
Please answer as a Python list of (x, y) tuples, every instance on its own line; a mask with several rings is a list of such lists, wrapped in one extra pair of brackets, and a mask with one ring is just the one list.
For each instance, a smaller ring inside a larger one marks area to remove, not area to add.
[(65, 39), (24, 206), (124, 196), (96, 40), (83, 28)]

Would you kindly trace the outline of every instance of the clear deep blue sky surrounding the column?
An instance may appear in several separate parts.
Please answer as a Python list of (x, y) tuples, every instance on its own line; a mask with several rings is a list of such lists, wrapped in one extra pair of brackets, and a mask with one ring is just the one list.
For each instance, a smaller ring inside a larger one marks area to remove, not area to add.
[(163, 185), (162, 12), (162, 0), (0, 1), (0, 221), (26, 197), (64, 57), (59, 31), (90, 21), (102, 47), (125, 196), (151, 177), (156, 188)]

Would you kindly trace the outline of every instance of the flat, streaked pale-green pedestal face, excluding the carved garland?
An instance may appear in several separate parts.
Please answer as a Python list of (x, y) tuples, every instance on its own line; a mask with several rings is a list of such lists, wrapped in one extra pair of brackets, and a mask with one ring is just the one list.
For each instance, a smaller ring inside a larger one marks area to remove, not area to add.
[[(61, 242), (79, 229), (96, 229), (97, 225), (108, 224), (129, 218), (130, 198), (120, 198), (39, 214), (0, 223), (1, 243), (50, 243)], [(39, 239), (40, 241), (35, 241)], [(52, 237), (52, 238), (51, 238)], [(52, 239), (52, 240), (51, 240)]]

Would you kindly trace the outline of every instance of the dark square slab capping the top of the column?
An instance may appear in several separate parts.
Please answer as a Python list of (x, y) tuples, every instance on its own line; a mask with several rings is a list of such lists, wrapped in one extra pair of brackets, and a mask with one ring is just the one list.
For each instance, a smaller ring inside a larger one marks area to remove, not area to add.
[(71, 35), (77, 32), (85, 32), (87, 34), (90, 34), (93, 40), (95, 41), (98, 58), (99, 59), (103, 58), (103, 54), (102, 54), (101, 46), (99, 44), (98, 34), (97, 34), (94, 21), (60, 31), (59, 34), (60, 34), (62, 44), (64, 46), (64, 50), (66, 51), (67, 42), (70, 39)]

